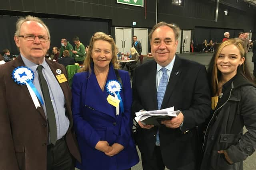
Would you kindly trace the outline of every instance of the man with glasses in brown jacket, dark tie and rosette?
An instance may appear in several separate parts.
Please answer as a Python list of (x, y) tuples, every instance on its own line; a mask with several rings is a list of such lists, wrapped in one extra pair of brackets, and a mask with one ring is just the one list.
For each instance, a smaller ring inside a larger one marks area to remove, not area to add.
[(16, 28), (20, 56), (0, 67), (0, 169), (74, 170), (81, 158), (66, 69), (44, 57), (50, 33), (42, 20), (20, 18)]

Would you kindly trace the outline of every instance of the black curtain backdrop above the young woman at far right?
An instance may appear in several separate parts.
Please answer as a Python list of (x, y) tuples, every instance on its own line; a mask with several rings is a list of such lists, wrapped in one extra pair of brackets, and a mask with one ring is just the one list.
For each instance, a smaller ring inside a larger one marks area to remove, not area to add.
[(229, 32), (230, 38), (237, 38), (239, 32), (243, 32), (242, 29), (222, 29), (222, 28), (206, 28), (206, 27), (195, 27), (193, 40), (194, 45), (202, 44), (204, 40), (207, 40), (207, 43), (210, 40), (217, 41), (218, 43), (222, 42), (224, 38), (224, 33)]

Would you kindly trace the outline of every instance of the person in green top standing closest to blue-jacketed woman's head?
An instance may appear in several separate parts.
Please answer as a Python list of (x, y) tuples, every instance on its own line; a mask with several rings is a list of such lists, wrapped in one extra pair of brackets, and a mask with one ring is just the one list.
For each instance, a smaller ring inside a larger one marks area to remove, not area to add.
[(75, 51), (72, 51), (74, 54), (74, 58), (76, 63), (79, 64), (84, 64), (84, 59), (85, 59), (85, 47), (84, 45), (80, 42), (79, 37), (74, 37), (73, 38), (75, 46)]

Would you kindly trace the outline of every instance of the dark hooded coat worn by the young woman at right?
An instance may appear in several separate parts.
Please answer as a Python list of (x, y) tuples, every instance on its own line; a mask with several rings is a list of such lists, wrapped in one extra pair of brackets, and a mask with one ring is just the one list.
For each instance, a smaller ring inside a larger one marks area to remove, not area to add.
[[(243, 160), (256, 148), (255, 86), (238, 73), (224, 87), (204, 137), (201, 170), (242, 170)], [(226, 150), (234, 164), (218, 150)]]

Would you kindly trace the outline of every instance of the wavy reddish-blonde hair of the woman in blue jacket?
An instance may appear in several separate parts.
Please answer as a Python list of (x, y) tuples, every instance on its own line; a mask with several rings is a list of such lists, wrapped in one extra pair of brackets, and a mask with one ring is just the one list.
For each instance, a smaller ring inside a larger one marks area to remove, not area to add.
[(96, 32), (96, 33), (94, 33), (94, 35), (92, 35), (92, 37), (90, 39), (89, 49), (88, 49), (88, 52), (86, 53), (86, 59), (84, 60), (84, 67), (81, 68), (79, 72), (89, 71), (89, 76), (90, 76), (90, 74), (92, 72), (91, 63), (93, 63), (92, 49), (93, 49), (95, 41), (98, 41), (98, 40), (103, 40), (103, 41), (107, 41), (108, 43), (110, 43), (111, 51), (112, 51), (111, 63), (113, 64), (114, 69), (119, 69), (119, 65), (116, 62), (117, 47), (116, 47), (114, 39), (111, 37), (111, 35), (107, 35), (106, 33)]

